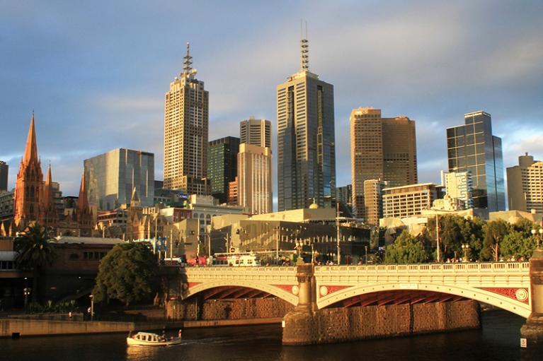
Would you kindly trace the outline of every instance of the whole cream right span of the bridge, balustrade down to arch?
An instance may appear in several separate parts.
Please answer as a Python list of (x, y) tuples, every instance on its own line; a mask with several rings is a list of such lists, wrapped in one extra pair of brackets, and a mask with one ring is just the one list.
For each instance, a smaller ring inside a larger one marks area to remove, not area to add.
[(316, 266), (314, 275), (319, 309), (375, 292), (418, 290), (485, 302), (523, 317), (531, 310), (528, 262)]

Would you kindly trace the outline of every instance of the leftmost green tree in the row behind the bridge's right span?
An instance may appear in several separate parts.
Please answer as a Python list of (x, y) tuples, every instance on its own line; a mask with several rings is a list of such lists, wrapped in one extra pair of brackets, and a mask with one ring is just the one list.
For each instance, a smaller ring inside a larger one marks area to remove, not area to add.
[(427, 259), (423, 242), (413, 237), (407, 230), (401, 232), (384, 253), (386, 264), (418, 264)]

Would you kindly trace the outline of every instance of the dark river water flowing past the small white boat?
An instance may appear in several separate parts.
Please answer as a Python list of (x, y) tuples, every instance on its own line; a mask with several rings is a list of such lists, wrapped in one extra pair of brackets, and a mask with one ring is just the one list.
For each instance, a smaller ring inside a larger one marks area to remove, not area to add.
[(183, 344), (171, 348), (128, 348), (122, 334), (0, 339), (0, 360), (512, 361), (521, 360), (524, 321), (505, 311), (492, 311), (482, 314), (480, 330), (310, 346), (281, 345), (278, 325), (185, 329)]

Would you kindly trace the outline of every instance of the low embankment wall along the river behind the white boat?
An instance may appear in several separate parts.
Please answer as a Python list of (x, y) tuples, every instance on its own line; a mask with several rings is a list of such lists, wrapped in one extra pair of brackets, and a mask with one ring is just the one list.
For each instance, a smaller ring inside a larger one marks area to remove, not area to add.
[(282, 318), (225, 319), (211, 321), (58, 321), (43, 319), (0, 319), (0, 338), (60, 336), (96, 333), (127, 333), (157, 329), (195, 329), (205, 327), (280, 324)]

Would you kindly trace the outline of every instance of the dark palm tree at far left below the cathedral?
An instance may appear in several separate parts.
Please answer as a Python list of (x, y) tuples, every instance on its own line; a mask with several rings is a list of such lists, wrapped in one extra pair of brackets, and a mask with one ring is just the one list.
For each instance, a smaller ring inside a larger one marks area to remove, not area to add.
[(13, 243), (13, 248), (18, 253), (16, 262), (21, 269), (32, 270), (33, 292), (32, 300), (36, 301), (38, 290), (38, 277), (40, 271), (47, 264), (52, 264), (55, 259), (55, 249), (52, 245), (47, 229), (38, 223), (29, 225), (19, 233)]

